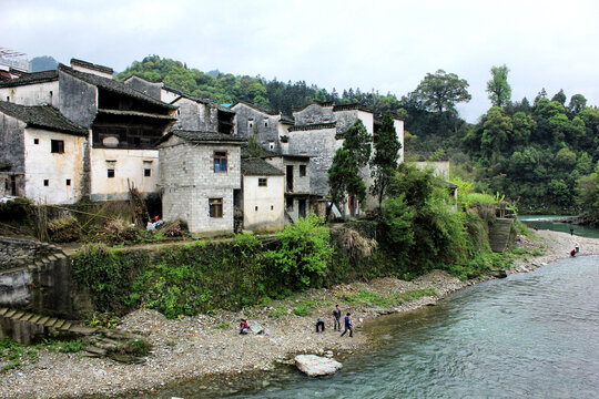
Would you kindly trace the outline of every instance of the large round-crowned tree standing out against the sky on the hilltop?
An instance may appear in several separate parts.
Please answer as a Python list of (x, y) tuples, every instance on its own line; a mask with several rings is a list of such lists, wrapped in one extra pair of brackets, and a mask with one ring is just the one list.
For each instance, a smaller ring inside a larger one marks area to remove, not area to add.
[(467, 88), (468, 82), (465, 79), (438, 70), (434, 74), (427, 73), (414, 93), (425, 108), (440, 114), (444, 110), (455, 111), (456, 103), (470, 101), (471, 95)]

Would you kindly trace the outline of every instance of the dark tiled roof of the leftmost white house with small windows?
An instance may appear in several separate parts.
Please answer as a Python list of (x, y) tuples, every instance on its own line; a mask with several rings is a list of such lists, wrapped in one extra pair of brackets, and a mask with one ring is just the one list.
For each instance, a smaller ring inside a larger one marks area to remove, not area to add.
[(19, 105), (0, 101), (0, 112), (23, 121), (29, 126), (42, 127), (62, 133), (87, 135), (88, 130), (81, 127), (50, 105)]

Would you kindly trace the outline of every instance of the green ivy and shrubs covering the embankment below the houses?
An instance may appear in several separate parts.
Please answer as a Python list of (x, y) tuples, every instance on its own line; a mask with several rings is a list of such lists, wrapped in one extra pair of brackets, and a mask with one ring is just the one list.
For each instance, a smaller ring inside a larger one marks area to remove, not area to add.
[[(469, 208), (451, 202), (432, 170), (400, 165), (373, 218), (326, 225), (308, 215), (275, 236), (246, 233), (184, 245), (91, 244), (74, 256), (73, 275), (89, 289), (97, 311), (153, 308), (169, 318), (265, 306), (308, 288), (376, 277), (412, 279), (433, 269), (475, 278), (506, 267), (514, 255), (490, 252), (496, 204), (465, 198)], [(362, 293), (346, 299), (408, 298)], [(308, 314), (308, 305), (296, 308), (297, 315)]]

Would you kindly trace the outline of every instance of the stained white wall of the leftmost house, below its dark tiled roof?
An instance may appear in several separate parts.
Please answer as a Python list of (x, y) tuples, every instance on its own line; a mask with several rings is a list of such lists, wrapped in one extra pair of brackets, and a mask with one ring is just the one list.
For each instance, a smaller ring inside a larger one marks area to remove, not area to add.
[[(64, 153), (51, 153), (52, 140), (64, 142)], [(27, 127), (24, 143), (24, 195), (47, 204), (73, 204), (80, 200), (85, 137)]]

